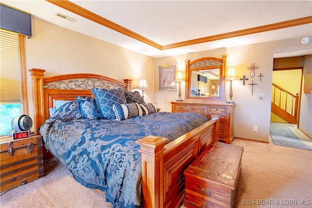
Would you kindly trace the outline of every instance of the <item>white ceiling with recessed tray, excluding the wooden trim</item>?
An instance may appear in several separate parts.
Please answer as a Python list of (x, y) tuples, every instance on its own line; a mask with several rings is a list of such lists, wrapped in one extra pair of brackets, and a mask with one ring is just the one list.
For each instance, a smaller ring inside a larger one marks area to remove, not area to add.
[[(174, 56), (295, 37), (300, 41), (301, 38), (312, 35), (312, 23), (309, 23), (159, 50), (45, 0), (0, 0), (0, 2), (31, 13), (35, 18), (151, 57)], [(162, 46), (312, 16), (311, 0), (72, 0), (71, 2)], [(56, 16), (57, 13), (77, 21), (60, 18)], [(276, 53), (292, 55), (290, 51), (312, 53), (311, 45), (278, 49)]]

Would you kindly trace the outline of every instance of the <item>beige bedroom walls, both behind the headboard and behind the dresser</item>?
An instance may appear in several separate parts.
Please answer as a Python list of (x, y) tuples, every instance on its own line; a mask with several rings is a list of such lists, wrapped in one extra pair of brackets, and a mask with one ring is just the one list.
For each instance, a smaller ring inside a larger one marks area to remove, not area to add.
[[(32, 19), (33, 37), (25, 38), (26, 68), (45, 69), (46, 76), (69, 73), (95, 73), (110, 76), (122, 81), (124, 78), (134, 79), (133, 89), (139, 78), (146, 78), (151, 89), (144, 91), (146, 102), (157, 102), (161, 111), (171, 112), (170, 101), (178, 98), (177, 91), (158, 91), (158, 66), (177, 64), (177, 70), (185, 70), (184, 60), (195, 60), (200, 57), (219, 57), (228, 55), (228, 66), (235, 66), (236, 75), (250, 78), (245, 86), (242, 81), (233, 81), (234, 136), (241, 138), (268, 141), (271, 112), (271, 83), (273, 68), (273, 52), (275, 48), (292, 47), (300, 44), (300, 38), (278, 40), (246, 46), (220, 48), (198, 53), (183, 54), (173, 57), (152, 58), (119, 46), (91, 38), (65, 28)], [(312, 37), (310, 37), (312, 38)], [(308, 59), (311, 62), (311, 57)], [(251, 95), (250, 71), (247, 67), (255, 63), (254, 95)], [(311, 63), (306, 64), (305, 71), (311, 71)], [(308, 69), (310, 67), (310, 69)], [(28, 72), (27, 72), (28, 73)], [(261, 73), (264, 75), (260, 82)], [(33, 116), (31, 76), (27, 76), (27, 93), (30, 116)], [(305, 74), (305, 73), (304, 73)], [(185, 83), (181, 83), (182, 98), (185, 95)], [(229, 100), (229, 82), (226, 82), (226, 100)], [(263, 93), (264, 99), (258, 99)], [(311, 115), (311, 94), (302, 98), (301, 114)], [(307, 110), (307, 108), (310, 108)], [(304, 118), (304, 119), (303, 119)], [(311, 116), (301, 116), (300, 125), (311, 129)], [(254, 125), (258, 132), (254, 132)], [(311, 130), (306, 131), (310, 132)]]

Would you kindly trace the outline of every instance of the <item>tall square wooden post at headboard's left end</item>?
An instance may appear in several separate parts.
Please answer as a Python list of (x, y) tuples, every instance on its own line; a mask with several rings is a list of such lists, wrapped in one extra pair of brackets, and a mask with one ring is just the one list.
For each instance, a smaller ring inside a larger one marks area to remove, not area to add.
[(43, 98), (43, 69), (28, 70), (33, 82), (33, 105), (34, 105), (34, 132), (39, 134), (38, 128), (44, 122), (44, 98)]

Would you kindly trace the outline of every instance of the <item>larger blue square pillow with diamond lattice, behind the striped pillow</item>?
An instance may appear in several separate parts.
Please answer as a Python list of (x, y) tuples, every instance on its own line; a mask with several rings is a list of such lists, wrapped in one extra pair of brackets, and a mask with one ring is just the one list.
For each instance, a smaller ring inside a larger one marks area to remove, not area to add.
[(96, 96), (98, 111), (103, 118), (115, 119), (116, 115), (113, 110), (113, 105), (127, 103), (124, 90), (120, 88), (117, 90), (93, 88), (92, 92)]

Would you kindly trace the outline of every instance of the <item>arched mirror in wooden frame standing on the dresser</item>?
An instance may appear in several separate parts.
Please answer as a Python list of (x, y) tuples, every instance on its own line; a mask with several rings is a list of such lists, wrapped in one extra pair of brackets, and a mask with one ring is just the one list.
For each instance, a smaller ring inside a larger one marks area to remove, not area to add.
[(185, 60), (186, 99), (225, 101), (225, 68), (227, 55), (222, 58), (204, 57), (192, 62)]

